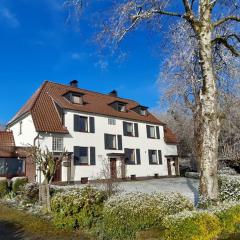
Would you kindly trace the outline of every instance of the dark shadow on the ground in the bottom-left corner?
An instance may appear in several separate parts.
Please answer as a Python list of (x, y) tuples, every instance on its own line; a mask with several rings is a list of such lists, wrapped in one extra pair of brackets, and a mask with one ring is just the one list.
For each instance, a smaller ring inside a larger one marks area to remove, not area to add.
[(23, 230), (17, 225), (0, 220), (0, 239), (2, 240), (25, 240)]

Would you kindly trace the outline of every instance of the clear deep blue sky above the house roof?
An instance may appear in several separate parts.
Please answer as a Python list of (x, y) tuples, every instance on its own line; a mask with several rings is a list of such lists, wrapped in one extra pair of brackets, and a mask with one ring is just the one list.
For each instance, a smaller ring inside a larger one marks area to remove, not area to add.
[[(156, 84), (162, 57), (152, 36), (130, 34), (127, 57), (99, 58), (90, 23), (66, 24), (61, 0), (0, 0), (0, 123), (6, 123), (44, 80), (107, 93), (116, 89), (151, 108), (159, 102)], [(86, 18), (86, 17), (85, 17)]]

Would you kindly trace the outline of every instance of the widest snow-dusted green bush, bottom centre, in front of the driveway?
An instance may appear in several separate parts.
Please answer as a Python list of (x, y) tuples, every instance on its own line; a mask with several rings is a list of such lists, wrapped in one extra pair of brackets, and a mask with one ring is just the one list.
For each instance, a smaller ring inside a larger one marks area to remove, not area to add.
[(104, 205), (104, 235), (107, 239), (134, 239), (141, 230), (159, 227), (165, 216), (192, 209), (192, 203), (178, 193), (116, 195)]

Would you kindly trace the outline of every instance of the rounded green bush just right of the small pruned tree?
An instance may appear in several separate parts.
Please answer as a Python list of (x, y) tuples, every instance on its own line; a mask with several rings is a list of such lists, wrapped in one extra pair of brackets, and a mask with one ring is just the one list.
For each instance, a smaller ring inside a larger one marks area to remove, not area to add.
[(59, 228), (92, 228), (102, 217), (106, 194), (91, 187), (56, 193), (51, 207)]

